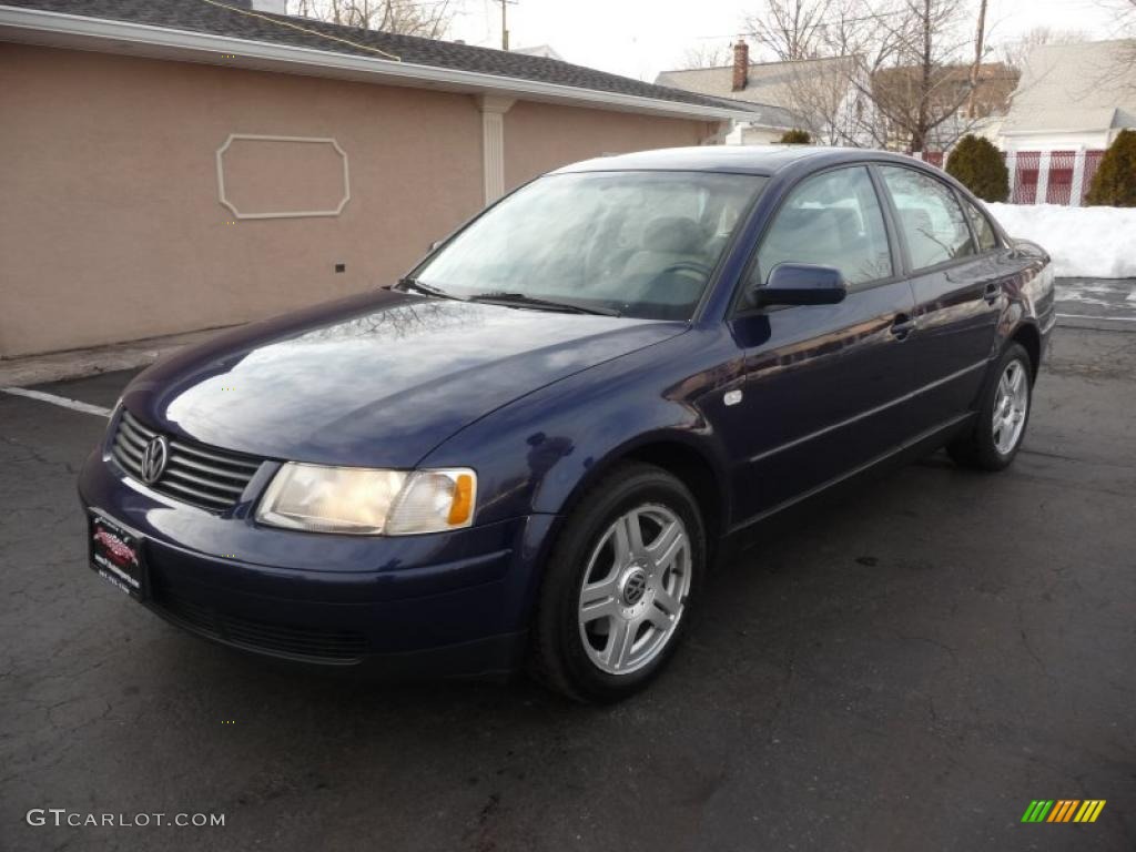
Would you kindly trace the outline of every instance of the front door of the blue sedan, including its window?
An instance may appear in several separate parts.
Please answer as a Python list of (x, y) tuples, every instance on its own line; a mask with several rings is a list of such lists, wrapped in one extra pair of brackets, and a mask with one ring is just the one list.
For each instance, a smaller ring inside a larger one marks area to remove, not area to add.
[(885, 216), (869, 169), (845, 166), (797, 184), (761, 237), (747, 286), (792, 261), (838, 268), (850, 293), (840, 304), (767, 307), (730, 320), (746, 369), (742, 399), (724, 418), (742, 524), (907, 437), (914, 299), (897, 275)]

